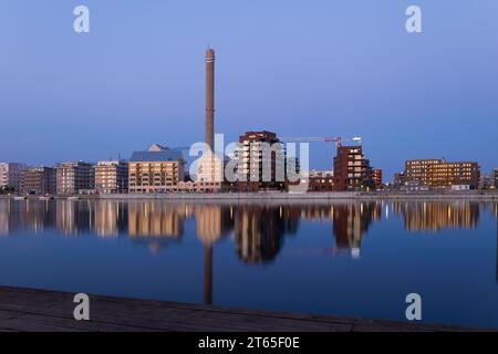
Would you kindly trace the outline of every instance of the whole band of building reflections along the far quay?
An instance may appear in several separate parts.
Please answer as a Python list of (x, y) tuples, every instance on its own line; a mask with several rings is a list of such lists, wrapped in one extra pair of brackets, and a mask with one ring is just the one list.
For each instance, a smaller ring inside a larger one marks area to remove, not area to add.
[[(498, 214), (497, 205), (490, 205)], [(487, 206), (486, 206), (487, 207)], [(0, 200), (0, 235), (22, 230), (42, 232), (55, 229), (64, 236), (93, 233), (117, 238), (127, 235), (134, 241), (155, 244), (180, 241), (187, 220), (195, 219), (196, 232), (211, 258), (214, 244), (231, 235), (236, 252), (245, 263), (273, 261), (286, 237), (297, 235), (303, 220), (331, 223), (334, 250), (357, 256), (363, 237), (374, 221), (401, 217), (405, 229), (442, 231), (448, 228), (476, 228), (480, 206), (470, 201), (394, 201), (342, 204), (172, 204), (151, 201), (69, 201)]]

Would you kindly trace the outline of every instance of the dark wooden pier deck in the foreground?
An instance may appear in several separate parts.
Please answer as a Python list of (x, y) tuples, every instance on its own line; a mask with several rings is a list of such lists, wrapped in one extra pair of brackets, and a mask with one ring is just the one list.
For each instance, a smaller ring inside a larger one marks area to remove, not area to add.
[(392, 321), (224, 309), (90, 295), (91, 321), (73, 317), (74, 293), (0, 287), (0, 331), (361, 332), (461, 331)]

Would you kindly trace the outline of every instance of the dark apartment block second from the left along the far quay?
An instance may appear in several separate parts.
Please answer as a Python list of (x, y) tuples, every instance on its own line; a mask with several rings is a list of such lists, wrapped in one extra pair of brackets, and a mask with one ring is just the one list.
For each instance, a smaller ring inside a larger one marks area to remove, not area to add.
[(52, 167), (33, 167), (22, 171), (21, 192), (44, 196), (56, 192), (56, 174)]

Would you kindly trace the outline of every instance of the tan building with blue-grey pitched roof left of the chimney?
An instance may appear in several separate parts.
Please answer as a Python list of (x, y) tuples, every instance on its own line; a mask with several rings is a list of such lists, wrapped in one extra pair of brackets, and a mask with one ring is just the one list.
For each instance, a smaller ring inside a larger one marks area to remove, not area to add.
[(169, 192), (185, 178), (181, 152), (153, 145), (146, 152), (135, 152), (128, 163), (131, 194)]

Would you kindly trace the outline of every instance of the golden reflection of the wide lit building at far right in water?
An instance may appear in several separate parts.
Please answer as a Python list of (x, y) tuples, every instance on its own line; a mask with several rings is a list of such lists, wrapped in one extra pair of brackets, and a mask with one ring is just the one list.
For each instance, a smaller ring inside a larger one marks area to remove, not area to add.
[(475, 228), (479, 221), (479, 205), (470, 201), (394, 202), (408, 231), (440, 231), (446, 228)]

